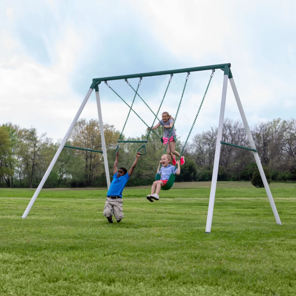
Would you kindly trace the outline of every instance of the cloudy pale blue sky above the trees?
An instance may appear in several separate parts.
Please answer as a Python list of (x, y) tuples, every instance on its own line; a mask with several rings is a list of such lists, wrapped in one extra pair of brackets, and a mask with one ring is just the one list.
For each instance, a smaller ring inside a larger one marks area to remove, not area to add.
[[(0, 124), (65, 136), (92, 78), (231, 63), (250, 126), (296, 116), (295, 1), (0, 0)], [(211, 71), (192, 72), (176, 119), (185, 141)], [(160, 113), (176, 116), (186, 73), (175, 74)], [(139, 94), (156, 112), (168, 75), (143, 78)], [(136, 88), (138, 79), (129, 80)], [(131, 104), (123, 81), (110, 86)], [(192, 136), (218, 126), (223, 72), (216, 70)], [(104, 123), (122, 130), (129, 108), (99, 85)], [(134, 110), (154, 116), (137, 97)], [(161, 115), (160, 115), (161, 116)], [(159, 116), (159, 118), (160, 118)], [(95, 92), (80, 118), (97, 119)], [(240, 120), (228, 83), (225, 118)], [(131, 112), (124, 134), (146, 133)]]

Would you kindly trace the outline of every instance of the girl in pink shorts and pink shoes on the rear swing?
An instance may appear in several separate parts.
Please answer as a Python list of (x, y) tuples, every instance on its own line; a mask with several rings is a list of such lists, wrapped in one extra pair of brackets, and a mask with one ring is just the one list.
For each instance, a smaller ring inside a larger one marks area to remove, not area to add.
[[(161, 125), (163, 126), (163, 144), (166, 145), (169, 141), (166, 153), (168, 153), (171, 158), (172, 158), (172, 164), (176, 165), (176, 157), (180, 157), (179, 152), (176, 151), (176, 132), (175, 129), (173, 129), (172, 131), (172, 135), (170, 137), (170, 139), (168, 139), (168, 137), (170, 136), (170, 132), (171, 129), (173, 127), (173, 122), (174, 122), (174, 118), (172, 118), (172, 116), (168, 113), (168, 112), (163, 112), (162, 114), (162, 120), (160, 120), (156, 126), (153, 126), (152, 129), (157, 129), (158, 127), (160, 127)], [(150, 128), (148, 128), (149, 130)], [(175, 139), (174, 139), (175, 138)], [(184, 165), (185, 163), (185, 159), (184, 156), (182, 156), (180, 158), (180, 164)]]

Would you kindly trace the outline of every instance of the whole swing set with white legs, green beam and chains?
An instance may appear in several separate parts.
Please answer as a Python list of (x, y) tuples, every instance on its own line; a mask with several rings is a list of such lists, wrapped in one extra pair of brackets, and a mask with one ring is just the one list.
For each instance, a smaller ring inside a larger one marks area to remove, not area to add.
[[(178, 117), (178, 112), (179, 112), (179, 109), (180, 109), (180, 106), (181, 106), (181, 102), (182, 102), (182, 99), (183, 99), (183, 95), (184, 95), (184, 92), (185, 92), (185, 88), (186, 88), (186, 84), (187, 84), (187, 81), (188, 81), (188, 78), (189, 78), (189, 75), (190, 75), (190, 72), (196, 72), (196, 71), (205, 71), (205, 70), (212, 70), (212, 73), (210, 75), (210, 80), (209, 80), (209, 83), (207, 85), (207, 88), (205, 90), (205, 94), (202, 98), (202, 101), (201, 101), (201, 104), (200, 104), (200, 107), (197, 111), (197, 114), (195, 116), (195, 119), (193, 121), (193, 124), (192, 124), (192, 127), (189, 131), (189, 134), (187, 136), (187, 139), (183, 145), (183, 148), (182, 148), (182, 151), (180, 153), (180, 157), (182, 155), (182, 153), (184, 152), (184, 149), (185, 149), (185, 146), (187, 144), (187, 141), (189, 139), (189, 136), (192, 132), (192, 129), (194, 127), (194, 124), (197, 120), (197, 116), (199, 115), (199, 112), (201, 110), (201, 107), (202, 107), (202, 103), (204, 102), (204, 99), (205, 99), (205, 96), (207, 94), (207, 90), (210, 86), (210, 82), (212, 80), (212, 77), (213, 77), (213, 74), (215, 72), (215, 70), (217, 69), (221, 69), (223, 72), (224, 72), (224, 78), (223, 78), (223, 88), (222, 88), (222, 97), (221, 97), (221, 107), (220, 107), (220, 116), (219, 116), (219, 124), (218, 124), (218, 133), (217, 133), (217, 141), (216, 141), (216, 149), (215, 149), (215, 157), (214, 157), (214, 165), (213, 165), (213, 176), (212, 176), (212, 182), (211, 182), (211, 191), (210, 191), (210, 199), (209, 199), (209, 207), (208, 207), (208, 213), (207, 213), (207, 224), (206, 224), (206, 233), (210, 233), (211, 232), (211, 226), (212, 226), (212, 219), (213, 219), (213, 210), (214, 210), (214, 201), (215, 201), (215, 192), (216, 192), (216, 185), (217, 185), (217, 177), (218, 177), (218, 166), (219, 166), (219, 159), (220, 159), (220, 150), (221, 150), (221, 145), (229, 145), (229, 146), (232, 146), (232, 147), (237, 147), (237, 148), (242, 148), (242, 149), (246, 149), (246, 150), (250, 150), (252, 151), (254, 157), (255, 157), (255, 161), (257, 163), (257, 166), (258, 166), (258, 169), (259, 169), (259, 172), (260, 172), (260, 175), (261, 175), (261, 178), (262, 178), (262, 181), (263, 181), (263, 184), (264, 184), (264, 187), (265, 187), (265, 190), (266, 190), (266, 193), (267, 193), (267, 196), (268, 196), (268, 200), (270, 202), (270, 205), (271, 205), (271, 208), (272, 208), (272, 211), (274, 213), (274, 217), (276, 219), (276, 223), (278, 225), (281, 225), (281, 220), (279, 218), (279, 214), (276, 210), (276, 206), (275, 206), (275, 203), (274, 203), (274, 200), (273, 200), (273, 197), (271, 195), (271, 191), (269, 189), (269, 186), (268, 186), (268, 183), (267, 183), (267, 180), (266, 180), (266, 176), (264, 174), (264, 171), (263, 171), (263, 168), (262, 168), (262, 165), (261, 165), (261, 162), (260, 162), (260, 158), (258, 156), (258, 152), (257, 152), (257, 149), (255, 147), (255, 143), (254, 143), (254, 140), (252, 138), (252, 134), (251, 134), (251, 130), (250, 130), (250, 127), (247, 123), (247, 119), (246, 119), (246, 116), (244, 114), (244, 110), (243, 110), (243, 107), (242, 107), (242, 103), (240, 101), (240, 98), (239, 98), (239, 94), (237, 92), (237, 88), (236, 88), (236, 85), (234, 83), (234, 79), (233, 79), (233, 76), (232, 76), (232, 73), (231, 73), (231, 70), (230, 70), (230, 64), (227, 63), (227, 64), (218, 64), (218, 65), (209, 65), (209, 66), (202, 66), (202, 67), (191, 67), (191, 68), (184, 68), (184, 69), (176, 69), (176, 70), (166, 70), (166, 71), (157, 71), (157, 72), (149, 72), (149, 73), (139, 73), (139, 74), (130, 74), (130, 75), (121, 75), (121, 76), (111, 76), (111, 77), (102, 77), (102, 78), (94, 78), (92, 80), (92, 83), (91, 83), (91, 86), (89, 88), (89, 91), (87, 92), (73, 122), (71, 123), (67, 133), (65, 134), (65, 137), (63, 138), (63, 140), (61, 141), (61, 144), (56, 152), (56, 154), (54, 155), (48, 169), (46, 170), (40, 184), (38, 185), (32, 199), (30, 200), (24, 214), (22, 215), (22, 218), (26, 218), (28, 213), (30, 212), (30, 209), (31, 207), (33, 206), (36, 198), (38, 197), (38, 194), (39, 192), (41, 191), (46, 179), (48, 178), (54, 164), (56, 163), (58, 157), (59, 157), (59, 154), (61, 153), (62, 149), (64, 147), (66, 148), (73, 148), (73, 149), (81, 149), (81, 150), (87, 150), (87, 151), (91, 151), (91, 152), (98, 152), (98, 153), (102, 153), (103, 155), (103, 158), (104, 158), (104, 167), (105, 167), (105, 172), (106, 172), (106, 179), (107, 179), (107, 186), (108, 186), (108, 189), (110, 187), (110, 175), (109, 175), (109, 168), (108, 168), (108, 160), (107, 160), (107, 150), (106, 150), (106, 144), (105, 144), (105, 138), (104, 138), (104, 127), (103, 127), (103, 119), (102, 119), (102, 110), (101, 110), (101, 102), (100, 102), (100, 95), (99, 95), (99, 84), (103, 81), (107, 87), (109, 89), (111, 89), (128, 107), (129, 107), (129, 111), (128, 111), (128, 115), (127, 115), (127, 118), (126, 118), (126, 121), (124, 123), (124, 126), (123, 126), (123, 129), (120, 133), (120, 136), (119, 136), (119, 139), (118, 139), (118, 144), (117, 144), (117, 147), (116, 147), (116, 150), (115, 150), (115, 154), (116, 152), (119, 151), (119, 144), (120, 143), (143, 143), (142, 146), (138, 149), (138, 152), (140, 152), (141, 155), (145, 155), (146, 154), (146, 143), (148, 141), (148, 138), (149, 138), (149, 135), (151, 133), (151, 131), (153, 133), (155, 133), (153, 130), (152, 130), (152, 126), (154, 125), (156, 119), (160, 122), (160, 120), (158, 119), (158, 114), (159, 114), (159, 111), (160, 111), (160, 108), (163, 104), (163, 101), (165, 99), (165, 95), (168, 91), (168, 87), (170, 86), (170, 82), (172, 81), (172, 78), (173, 78), (173, 74), (177, 74), (177, 73), (187, 73), (187, 76), (186, 76), (186, 79), (185, 79), (185, 84), (184, 84), (184, 88), (183, 88), (183, 92), (182, 92), (182, 95), (181, 95), (181, 99), (180, 99), (180, 102), (179, 102), (179, 105), (178, 105), (178, 109), (177, 109), (177, 112), (176, 112), (176, 116), (175, 116), (175, 120), (173, 121), (173, 126), (172, 128), (170, 129), (167, 129), (168, 131), (170, 131), (170, 134), (169, 134), (169, 139), (172, 135), (172, 131), (173, 131), (173, 128), (174, 128), (174, 125), (175, 125), (175, 122), (176, 122), (176, 119)], [(163, 95), (163, 98), (160, 102), (160, 106), (157, 110), (156, 113), (154, 113), (152, 111), (152, 109), (148, 106), (148, 104), (144, 101), (144, 99), (142, 99), (142, 97), (139, 95), (138, 93), (138, 90), (139, 90), (139, 87), (141, 85), (141, 81), (144, 77), (149, 77), (149, 76), (160, 76), (160, 75), (170, 75), (170, 79), (168, 81), (168, 85), (166, 87), (166, 90), (165, 90), (165, 93)], [(128, 79), (130, 78), (139, 78), (139, 83), (138, 83), (138, 86), (136, 89), (134, 89), (131, 84), (128, 82)], [(126, 81), (126, 83), (128, 84), (128, 86), (131, 87), (131, 89), (133, 89), (133, 91), (135, 92), (135, 95), (133, 97), (133, 101), (131, 103), (131, 105), (129, 105), (114, 89), (112, 89), (112, 87), (108, 84), (109, 81), (112, 81), (112, 80), (121, 80), (121, 79), (124, 79)], [(233, 143), (226, 143), (226, 142), (223, 142), (222, 141), (222, 129), (223, 129), (223, 120), (224, 120), (224, 111), (225, 111), (225, 102), (226, 102), (226, 91), (227, 91), (227, 83), (228, 83), (228, 80), (231, 84), (231, 88), (232, 88), (232, 91), (234, 93), (234, 97), (235, 97), (235, 100), (237, 102), (237, 106), (238, 106), (238, 109), (239, 109), (239, 112), (240, 112), (240, 115), (241, 115), (241, 118), (242, 118), (242, 121), (243, 121), (243, 124), (244, 124), (244, 127), (246, 129), (246, 133), (247, 133), (247, 136), (248, 136), (248, 139), (249, 139), (249, 143), (250, 143), (250, 146), (251, 147), (242, 147), (242, 146), (238, 146), (238, 145), (235, 145)], [(91, 95), (92, 91), (95, 89), (95, 93), (96, 93), (96, 103), (97, 103), (97, 109), (98, 109), (98, 117), (99, 117), (99, 127), (100, 127), (100, 134), (101, 134), (101, 142), (102, 142), (102, 151), (98, 151), (98, 150), (92, 150), (92, 149), (86, 149), (86, 148), (80, 148), (80, 147), (73, 147), (73, 146), (67, 146), (65, 145), (66, 144), (66, 141), (68, 139), (68, 137), (70, 136), (70, 133), (71, 131), (73, 130), (84, 106), (86, 105), (86, 102), (88, 101), (89, 99), (89, 96)], [(135, 102), (135, 99), (136, 99), (136, 96), (138, 96), (144, 103), (145, 105), (149, 108), (149, 110), (152, 112), (152, 114), (154, 115), (154, 120), (153, 120), (153, 123), (152, 125), (148, 125), (137, 113), (135, 110), (133, 110), (133, 104)], [(147, 133), (147, 136), (146, 136), (146, 139), (143, 140), (143, 141), (133, 141), (133, 140), (127, 140), (127, 141), (124, 141), (124, 140), (121, 140), (121, 137), (123, 135), (123, 131), (124, 131), (124, 128), (126, 126), (126, 123), (127, 123), (127, 120), (128, 120), (128, 117), (131, 113), (131, 111), (133, 111), (138, 117), (139, 119), (147, 126), (147, 128), (149, 128), (149, 131)], [(163, 125), (164, 126), (164, 125)], [(155, 133), (157, 135), (157, 133)], [(157, 135), (160, 140), (162, 141), (162, 138)], [(176, 139), (175, 139), (176, 141)], [(166, 153), (166, 150), (167, 150), (167, 147), (168, 147), (168, 144), (169, 144), (169, 141), (168, 143), (166, 144), (165, 146), (165, 150), (164, 150), (164, 154)], [(144, 151), (143, 151), (144, 150)], [(179, 159), (180, 159), (179, 157)], [(179, 160), (178, 159), (178, 160)], [(159, 180), (160, 179), (160, 175), (157, 174), (156, 175), (156, 180)], [(162, 190), (168, 190), (172, 187), (173, 183), (175, 181), (175, 175), (171, 174), (170, 177), (169, 177), (169, 180), (168, 182), (165, 184), (165, 186), (161, 187)]]

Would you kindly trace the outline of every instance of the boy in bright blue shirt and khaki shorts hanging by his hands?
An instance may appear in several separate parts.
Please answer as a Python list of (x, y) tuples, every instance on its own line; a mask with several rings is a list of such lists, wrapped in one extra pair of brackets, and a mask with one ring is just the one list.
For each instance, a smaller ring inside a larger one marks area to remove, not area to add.
[(140, 152), (137, 152), (137, 156), (133, 165), (131, 166), (129, 171), (127, 171), (126, 168), (117, 169), (119, 153), (116, 152), (116, 159), (113, 165), (114, 176), (107, 192), (107, 198), (103, 212), (103, 215), (108, 219), (109, 223), (113, 223), (111, 214), (112, 210), (114, 217), (118, 223), (124, 217), (122, 212), (122, 191), (124, 186), (126, 186), (126, 183), (131, 176), (133, 169), (136, 167), (140, 155)]

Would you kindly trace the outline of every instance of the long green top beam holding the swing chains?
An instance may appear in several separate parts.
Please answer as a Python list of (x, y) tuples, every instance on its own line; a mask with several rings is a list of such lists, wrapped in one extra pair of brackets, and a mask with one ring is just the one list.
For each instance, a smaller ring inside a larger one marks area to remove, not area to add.
[(94, 78), (92, 86), (101, 83), (101, 81), (110, 81), (110, 80), (119, 80), (119, 79), (128, 79), (128, 78), (139, 78), (139, 77), (148, 77), (148, 76), (159, 76), (159, 75), (186, 73), (186, 72), (195, 72), (195, 71), (205, 71), (205, 70), (213, 70), (213, 69), (221, 69), (221, 68), (224, 70), (224, 67), (226, 65), (230, 68), (230, 63), (227, 63), (227, 64), (209, 65), (209, 66), (202, 66), (202, 67), (176, 69), (176, 70), (147, 72), (147, 73), (121, 75), (121, 76), (111, 76), (111, 77), (103, 77), (103, 78)]

